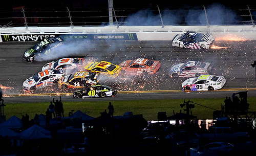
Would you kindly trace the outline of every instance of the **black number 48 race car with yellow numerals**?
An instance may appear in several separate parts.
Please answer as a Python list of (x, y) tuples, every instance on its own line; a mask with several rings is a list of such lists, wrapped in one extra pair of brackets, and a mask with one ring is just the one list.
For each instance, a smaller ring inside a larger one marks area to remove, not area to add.
[(83, 90), (75, 91), (73, 98), (94, 98), (94, 97), (114, 97), (117, 94), (117, 90), (110, 86), (98, 84), (89, 86)]

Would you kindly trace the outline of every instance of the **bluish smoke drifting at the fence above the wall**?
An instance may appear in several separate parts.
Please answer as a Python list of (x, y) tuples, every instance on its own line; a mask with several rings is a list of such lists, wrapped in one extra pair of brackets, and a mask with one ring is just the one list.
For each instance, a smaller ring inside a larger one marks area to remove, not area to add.
[[(222, 4), (211, 4), (206, 7), (209, 25), (232, 25), (240, 18), (236, 12)], [(201, 8), (180, 8), (175, 10), (161, 10), (164, 25), (207, 25), (203, 6)], [(129, 14), (124, 24), (127, 26), (154, 26), (161, 25), (158, 11), (143, 9)]]

